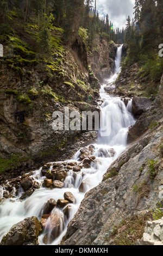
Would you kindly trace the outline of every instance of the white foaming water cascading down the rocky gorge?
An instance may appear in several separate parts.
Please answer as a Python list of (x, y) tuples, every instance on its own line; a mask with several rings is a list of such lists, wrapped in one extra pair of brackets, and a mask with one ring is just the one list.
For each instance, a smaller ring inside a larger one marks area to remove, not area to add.
[[(108, 80), (108, 82), (115, 81), (118, 72), (121, 71), (121, 53), (122, 46), (120, 46), (117, 50), (117, 57), (115, 60), (115, 74)], [(55, 239), (51, 245), (58, 245), (62, 239), (62, 237), (66, 233), (67, 225), (73, 218), (74, 214), (79, 209), (80, 203), (82, 202), (85, 193), (89, 191), (91, 188), (97, 186), (99, 182), (102, 181), (103, 175), (106, 170), (109, 168), (110, 164), (114, 162), (118, 156), (124, 151), (126, 148), (126, 140), (127, 140), (127, 132), (128, 127), (134, 124), (134, 118), (131, 115), (131, 101), (129, 101), (128, 106), (124, 104), (120, 97), (111, 97), (104, 91), (105, 85), (101, 86), (100, 95), (101, 100), (103, 101), (101, 105), (102, 117), (103, 120), (106, 119), (107, 113), (111, 113), (109, 115), (109, 123), (111, 124), (111, 129), (108, 135), (102, 136), (102, 131), (99, 131), (99, 140), (97, 144), (94, 144), (95, 151), (93, 153), (96, 156), (96, 163), (91, 163), (90, 169), (82, 169), (81, 172), (76, 174), (74, 178), (72, 170), (68, 173), (68, 176), (65, 180), (65, 187), (62, 189), (55, 188), (50, 190), (48, 188), (43, 188), (41, 186), (40, 189), (36, 190), (32, 196), (23, 200), (19, 199), (22, 194), (22, 190), (20, 188), (20, 193), (14, 199), (7, 199), (0, 205), (0, 241), (4, 234), (7, 234), (12, 225), (24, 220), (26, 217), (36, 216), (41, 218), (41, 211), (43, 209), (43, 205), (51, 198), (55, 199), (64, 199), (65, 192), (71, 192), (73, 196), (76, 198), (75, 204), (71, 205), (70, 216), (67, 220), (66, 216), (63, 214), (63, 209), (55, 209), (55, 214), (60, 214), (61, 221), (61, 233), (60, 236)], [(109, 157), (108, 149), (114, 149), (115, 155)], [(74, 155), (72, 160), (68, 161), (78, 161), (80, 156), (80, 149)], [(67, 162), (68, 162), (67, 161)], [(36, 170), (33, 178), (42, 185), (45, 177), (41, 175), (41, 168)], [(83, 180), (87, 180), (87, 184), (85, 187), (85, 193), (79, 192), (79, 185)], [(0, 194), (2, 196), (3, 189), (0, 188)], [(49, 221), (47, 222), (47, 227), (43, 231), (43, 233), (39, 236), (39, 243), (43, 245), (43, 237), (51, 231), (49, 231), (50, 225)]]

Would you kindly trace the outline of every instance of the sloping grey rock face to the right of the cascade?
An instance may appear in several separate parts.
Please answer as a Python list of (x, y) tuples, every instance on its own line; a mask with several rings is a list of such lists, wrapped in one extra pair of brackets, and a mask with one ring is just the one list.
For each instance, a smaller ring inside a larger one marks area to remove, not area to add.
[(145, 220), (152, 221), (151, 209), (161, 212), (163, 206), (162, 80), (153, 106), (146, 114), (149, 117), (151, 113), (151, 120), (156, 118), (158, 123), (133, 139), (111, 164), (101, 184), (86, 193), (62, 245), (145, 244)]

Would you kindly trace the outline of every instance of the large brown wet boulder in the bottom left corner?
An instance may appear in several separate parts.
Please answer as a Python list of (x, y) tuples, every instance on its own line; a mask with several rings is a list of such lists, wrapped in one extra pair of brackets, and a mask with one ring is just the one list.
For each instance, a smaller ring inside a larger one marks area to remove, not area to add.
[(4, 235), (0, 245), (39, 245), (38, 236), (42, 231), (37, 217), (25, 218), (13, 225), (7, 235)]

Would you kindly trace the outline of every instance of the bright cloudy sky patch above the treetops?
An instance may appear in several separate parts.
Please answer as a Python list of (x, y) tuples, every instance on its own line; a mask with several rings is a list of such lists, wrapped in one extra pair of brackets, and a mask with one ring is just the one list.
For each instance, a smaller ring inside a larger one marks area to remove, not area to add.
[(128, 15), (133, 18), (135, 0), (96, 0), (97, 10), (100, 16), (109, 15), (114, 28), (126, 27)]

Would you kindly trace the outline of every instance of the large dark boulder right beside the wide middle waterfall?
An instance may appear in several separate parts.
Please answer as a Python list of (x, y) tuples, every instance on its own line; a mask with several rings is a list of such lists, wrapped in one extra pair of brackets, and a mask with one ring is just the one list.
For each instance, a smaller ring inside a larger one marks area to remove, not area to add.
[(132, 112), (135, 117), (140, 117), (140, 115), (149, 110), (152, 106), (152, 101), (147, 97), (134, 97)]

